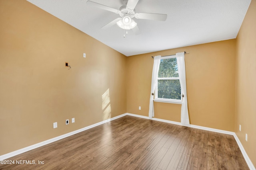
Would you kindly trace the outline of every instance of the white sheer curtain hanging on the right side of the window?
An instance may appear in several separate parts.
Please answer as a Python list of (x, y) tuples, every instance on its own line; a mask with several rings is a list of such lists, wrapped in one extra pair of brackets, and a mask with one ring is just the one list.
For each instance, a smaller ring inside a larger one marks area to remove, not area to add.
[(178, 72), (180, 77), (180, 87), (182, 92), (182, 105), (181, 105), (181, 123), (183, 125), (189, 125), (188, 117), (188, 98), (187, 98), (187, 86), (186, 86), (186, 69), (185, 69), (185, 57), (183, 53), (176, 53)]

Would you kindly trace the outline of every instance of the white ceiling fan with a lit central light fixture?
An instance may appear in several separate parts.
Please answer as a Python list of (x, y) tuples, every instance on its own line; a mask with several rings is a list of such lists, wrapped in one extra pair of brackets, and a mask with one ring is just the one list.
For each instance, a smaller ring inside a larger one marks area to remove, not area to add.
[[(114, 8), (111, 8), (109, 6), (105, 6), (102, 4), (98, 4), (96, 2), (92, 2), (88, 0), (86, 4), (90, 6), (94, 6), (97, 8), (101, 8), (103, 10), (107, 10), (110, 12), (114, 12), (116, 14), (119, 14), (120, 17), (116, 18), (115, 20), (111, 21), (110, 23), (104, 25), (102, 29), (107, 29), (115, 24), (117, 24), (122, 29), (132, 29), (132, 31), (138, 35), (140, 34), (140, 29), (137, 26), (137, 23), (132, 18), (137, 19), (146, 19), (146, 20), (158, 20), (158, 21), (165, 21), (167, 18), (166, 14), (153, 14), (153, 13), (136, 13), (135, 12), (135, 6), (137, 5), (139, 0), (128, 0), (127, 4), (124, 6), (121, 6), (119, 10), (116, 10)], [(126, 31), (127, 33), (127, 31)]]

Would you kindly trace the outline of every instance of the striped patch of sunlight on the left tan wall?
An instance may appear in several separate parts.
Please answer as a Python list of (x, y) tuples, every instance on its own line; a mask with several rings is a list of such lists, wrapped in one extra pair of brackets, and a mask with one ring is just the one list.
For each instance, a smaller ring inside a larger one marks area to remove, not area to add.
[(110, 105), (110, 96), (109, 89), (102, 95), (102, 119), (104, 123), (110, 121), (111, 119), (111, 105)]

